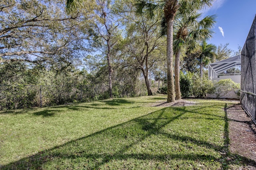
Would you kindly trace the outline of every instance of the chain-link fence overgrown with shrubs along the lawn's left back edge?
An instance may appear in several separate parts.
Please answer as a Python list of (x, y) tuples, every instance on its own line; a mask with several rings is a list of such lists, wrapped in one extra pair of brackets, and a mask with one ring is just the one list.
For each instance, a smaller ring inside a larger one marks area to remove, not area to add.
[[(152, 87), (152, 92), (158, 88)], [(114, 85), (116, 98), (143, 96), (146, 86)], [(56, 106), (109, 98), (108, 86), (92, 85), (0, 85), (0, 110)]]

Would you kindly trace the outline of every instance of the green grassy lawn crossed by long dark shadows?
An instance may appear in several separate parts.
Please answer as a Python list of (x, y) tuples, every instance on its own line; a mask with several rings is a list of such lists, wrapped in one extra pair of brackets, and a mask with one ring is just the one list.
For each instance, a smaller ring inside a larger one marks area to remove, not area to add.
[[(144, 96), (0, 112), (0, 169), (225, 169), (224, 107)], [(234, 166), (239, 162), (232, 162)]]

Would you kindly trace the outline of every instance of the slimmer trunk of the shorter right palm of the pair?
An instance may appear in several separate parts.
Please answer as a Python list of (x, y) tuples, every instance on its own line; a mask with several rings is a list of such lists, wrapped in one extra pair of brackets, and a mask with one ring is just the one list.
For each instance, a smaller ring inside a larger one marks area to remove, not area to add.
[(175, 54), (175, 94), (176, 100), (181, 99), (181, 93), (180, 93), (180, 49)]

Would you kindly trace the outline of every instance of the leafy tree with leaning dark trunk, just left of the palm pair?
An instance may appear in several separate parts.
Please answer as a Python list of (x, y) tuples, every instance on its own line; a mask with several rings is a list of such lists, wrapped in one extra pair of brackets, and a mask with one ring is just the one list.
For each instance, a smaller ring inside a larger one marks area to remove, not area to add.
[(150, 68), (156, 62), (163, 60), (161, 51), (165, 45), (160, 34), (161, 18), (158, 15), (150, 20), (145, 14), (137, 16), (134, 13), (134, 1), (126, 0), (125, 5), (120, 2), (118, 2), (120, 5), (116, 6), (116, 10), (118, 14), (122, 13), (122, 23), (126, 27), (123, 49), (127, 61), (126, 65), (142, 71), (148, 95), (152, 95), (149, 79)]

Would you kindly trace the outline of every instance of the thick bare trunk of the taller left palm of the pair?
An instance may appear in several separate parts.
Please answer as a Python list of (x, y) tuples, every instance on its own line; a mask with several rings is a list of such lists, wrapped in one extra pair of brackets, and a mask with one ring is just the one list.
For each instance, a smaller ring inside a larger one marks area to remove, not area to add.
[(167, 22), (167, 47), (166, 47), (166, 57), (167, 57), (167, 102), (174, 102), (174, 78), (172, 70), (172, 57), (173, 57), (173, 19), (166, 18)]

